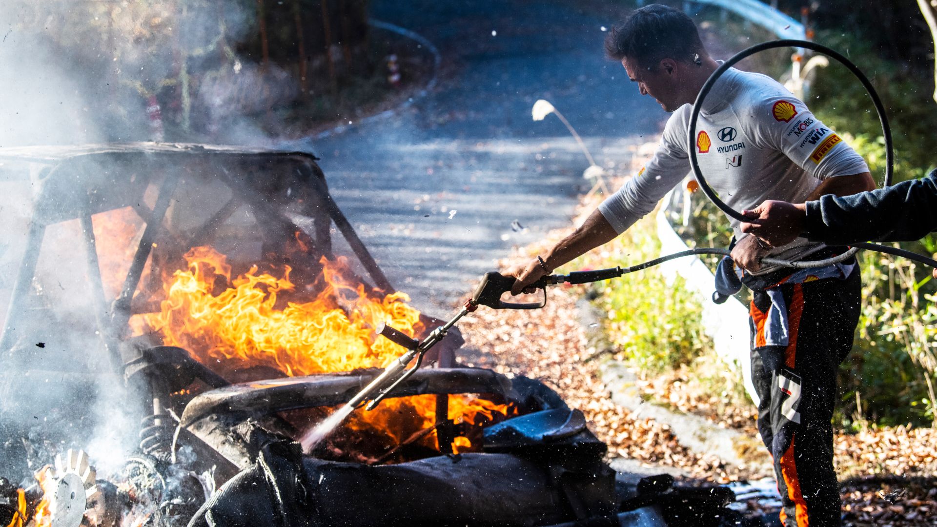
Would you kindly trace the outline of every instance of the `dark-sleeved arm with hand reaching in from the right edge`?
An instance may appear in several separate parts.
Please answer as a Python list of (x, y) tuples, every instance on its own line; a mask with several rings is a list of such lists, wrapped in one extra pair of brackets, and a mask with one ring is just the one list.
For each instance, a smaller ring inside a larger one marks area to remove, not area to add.
[(924, 179), (903, 181), (851, 196), (821, 196), (807, 203), (767, 201), (742, 223), (771, 245), (798, 235), (830, 245), (864, 241), (911, 241), (937, 229), (937, 171)]

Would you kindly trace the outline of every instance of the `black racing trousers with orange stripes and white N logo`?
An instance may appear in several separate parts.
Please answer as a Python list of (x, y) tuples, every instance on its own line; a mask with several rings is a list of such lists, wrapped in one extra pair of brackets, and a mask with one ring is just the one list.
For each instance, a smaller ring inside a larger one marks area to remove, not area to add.
[(840, 525), (833, 468), (837, 369), (853, 347), (862, 303), (859, 269), (847, 279), (778, 286), (786, 304), (788, 345), (765, 345), (771, 300), (755, 292), (751, 378), (761, 401), (758, 431), (771, 457), (786, 527)]

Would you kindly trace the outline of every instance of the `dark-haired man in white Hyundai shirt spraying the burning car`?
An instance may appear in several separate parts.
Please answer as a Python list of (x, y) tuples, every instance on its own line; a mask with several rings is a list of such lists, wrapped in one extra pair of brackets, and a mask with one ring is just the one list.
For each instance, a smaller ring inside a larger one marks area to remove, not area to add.
[[(572, 234), (524, 266), (507, 271), (513, 294), (627, 230), (690, 172), (692, 102), (719, 67), (692, 20), (661, 5), (635, 10), (605, 42), (632, 82), (672, 112), (654, 157)], [(706, 97), (695, 144), (706, 180), (736, 210), (767, 199), (800, 203), (875, 188), (865, 161), (781, 84), (729, 69)], [(819, 259), (844, 248), (804, 238), (766, 246), (738, 230), (732, 259), (752, 290), (752, 376), (758, 429), (775, 465), (781, 521), (839, 525), (840, 493), (830, 424), (836, 372), (853, 343), (861, 303), (858, 269), (844, 262), (807, 272), (764, 267), (762, 257)], [(731, 263), (729, 263), (731, 267)]]

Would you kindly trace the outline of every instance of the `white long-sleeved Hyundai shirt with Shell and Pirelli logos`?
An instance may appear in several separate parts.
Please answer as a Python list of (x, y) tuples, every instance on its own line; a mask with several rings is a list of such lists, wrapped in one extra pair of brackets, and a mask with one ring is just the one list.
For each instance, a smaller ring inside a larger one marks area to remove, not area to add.
[[(692, 105), (674, 112), (654, 157), (599, 205), (623, 233), (691, 172), (687, 132)], [(780, 83), (729, 68), (704, 101), (696, 125), (700, 169), (720, 199), (737, 211), (765, 200), (803, 203), (827, 177), (869, 172), (865, 160)], [(736, 239), (745, 234), (730, 218)], [(797, 238), (771, 251), (794, 259), (823, 248)], [(766, 267), (756, 274), (777, 269)]]

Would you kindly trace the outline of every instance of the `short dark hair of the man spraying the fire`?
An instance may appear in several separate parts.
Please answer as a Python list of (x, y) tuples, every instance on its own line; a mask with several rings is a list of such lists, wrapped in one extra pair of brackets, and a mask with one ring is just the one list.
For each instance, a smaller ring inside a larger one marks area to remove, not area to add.
[(635, 9), (605, 38), (605, 53), (617, 61), (628, 57), (644, 68), (662, 59), (692, 62), (705, 52), (696, 24), (683, 11), (661, 4)]

